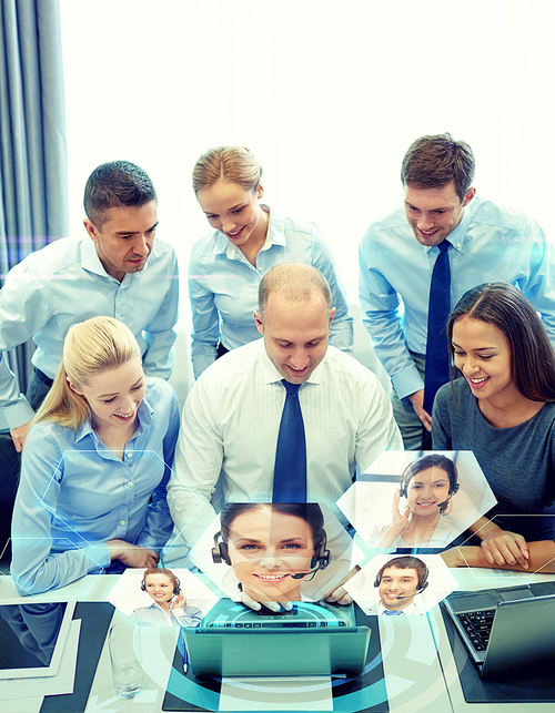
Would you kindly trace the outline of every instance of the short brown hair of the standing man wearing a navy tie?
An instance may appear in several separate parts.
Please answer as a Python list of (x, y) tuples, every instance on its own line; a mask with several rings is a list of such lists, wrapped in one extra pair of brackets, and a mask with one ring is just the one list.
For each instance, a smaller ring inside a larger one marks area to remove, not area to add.
[(443, 189), (455, 182), (461, 203), (474, 180), (474, 154), (464, 141), (448, 133), (421, 136), (405, 153), (401, 167), (403, 186)]

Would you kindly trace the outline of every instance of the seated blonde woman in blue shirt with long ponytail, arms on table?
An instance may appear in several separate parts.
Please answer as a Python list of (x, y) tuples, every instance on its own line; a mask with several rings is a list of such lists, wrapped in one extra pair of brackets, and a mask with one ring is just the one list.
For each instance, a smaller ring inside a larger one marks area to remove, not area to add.
[(178, 431), (173, 388), (147, 384), (125, 325), (71, 327), (23, 449), (11, 567), (20, 593), (157, 566), (172, 529), (165, 485)]

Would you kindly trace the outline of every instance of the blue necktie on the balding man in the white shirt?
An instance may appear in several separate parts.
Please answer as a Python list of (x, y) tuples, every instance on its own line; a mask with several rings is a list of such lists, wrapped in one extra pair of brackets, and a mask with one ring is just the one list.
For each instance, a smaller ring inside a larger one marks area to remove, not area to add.
[(306, 441), (299, 403), (301, 384), (282, 379), (287, 391), (275, 448), (273, 502), (306, 502)]

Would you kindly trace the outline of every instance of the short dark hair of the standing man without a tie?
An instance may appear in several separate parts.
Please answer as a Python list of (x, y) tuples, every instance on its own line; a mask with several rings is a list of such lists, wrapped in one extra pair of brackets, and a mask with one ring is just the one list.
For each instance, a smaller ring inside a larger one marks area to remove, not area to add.
[(130, 161), (103, 163), (84, 186), (84, 212), (98, 228), (110, 208), (141, 207), (151, 201), (157, 201), (157, 192), (149, 174)]

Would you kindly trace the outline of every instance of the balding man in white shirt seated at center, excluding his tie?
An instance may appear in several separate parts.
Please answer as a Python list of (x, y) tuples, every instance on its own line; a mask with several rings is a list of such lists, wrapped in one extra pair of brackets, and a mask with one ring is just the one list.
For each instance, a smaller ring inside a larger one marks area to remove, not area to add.
[[(164, 561), (179, 561), (225, 502), (271, 502), (282, 380), (300, 384), (306, 445), (306, 500), (335, 501), (402, 440), (372, 371), (329, 346), (335, 310), (327, 282), (310, 265), (281, 264), (260, 284), (254, 319), (263, 338), (212, 364), (185, 407), (168, 500), (175, 529)], [(175, 547), (175, 546), (186, 547)]]

